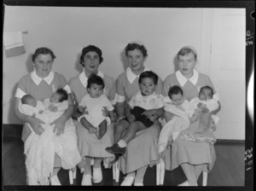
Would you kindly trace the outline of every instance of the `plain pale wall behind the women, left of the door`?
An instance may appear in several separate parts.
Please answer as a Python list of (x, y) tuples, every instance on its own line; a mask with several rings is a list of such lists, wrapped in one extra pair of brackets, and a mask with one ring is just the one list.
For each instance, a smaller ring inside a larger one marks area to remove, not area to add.
[(80, 72), (79, 53), (88, 44), (102, 49), (102, 72), (117, 78), (124, 71), (125, 45), (134, 40), (144, 43), (148, 49), (146, 67), (162, 79), (174, 72), (175, 55), (188, 44), (198, 49), (198, 68), (209, 75), (211, 22), (212, 9), (7, 6), (3, 31), (28, 34), (23, 35), (26, 54), (5, 58), (3, 51), (3, 124), (20, 123), (13, 115), (15, 84), (31, 72), (30, 56), (38, 47), (53, 49), (53, 70), (67, 80)]

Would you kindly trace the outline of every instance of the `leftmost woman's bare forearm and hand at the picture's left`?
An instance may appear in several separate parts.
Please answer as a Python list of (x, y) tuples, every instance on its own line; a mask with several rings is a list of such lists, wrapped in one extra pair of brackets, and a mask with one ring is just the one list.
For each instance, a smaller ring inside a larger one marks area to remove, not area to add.
[(44, 124), (44, 121), (41, 119), (33, 118), (31, 116), (25, 115), (23, 113), (20, 113), (19, 110), (19, 104), (20, 104), (20, 98), (15, 97), (15, 117), (17, 119), (20, 119), (23, 123), (31, 124), (32, 130), (35, 131), (35, 133), (40, 136), (44, 129), (41, 124)]

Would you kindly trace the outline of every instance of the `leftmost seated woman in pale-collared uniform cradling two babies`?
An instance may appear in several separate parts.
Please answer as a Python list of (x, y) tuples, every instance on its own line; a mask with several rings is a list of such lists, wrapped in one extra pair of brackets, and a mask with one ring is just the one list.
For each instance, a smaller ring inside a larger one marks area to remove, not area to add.
[[(44, 133), (44, 129), (41, 124), (44, 122), (40, 119), (27, 116), (19, 111), (19, 104), (22, 96), (31, 95), (37, 101), (44, 101), (45, 98), (49, 98), (55, 90), (64, 89), (67, 90), (68, 94), (68, 108), (61, 115), (59, 119), (56, 119), (52, 124), (55, 124), (54, 131), (56, 136), (68, 136), (70, 144), (73, 148), (77, 147), (77, 136), (76, 130), (72, 119), (70, 118), (73, 114), (73, 99), (71, 96), (71, 90), (67, 84), (66, 78), (57, 72), (52, 72), (51, 68), (55, 60), (55, 55), (52, 50), (42, 47), (36, 49), (32, 55), (32, 63), (34, 66), (34, 71), (26, 74), (26, 76), (20, 78), (18, 83), (18, 88), (15, 93), (15, 116), (20, 119), (24, 124), (22, 131), (22, 140), (26, 142), (26, 139), (31, 134), (31, 130), (27, 126), (31, 124), (32, 130), (40, 136)], [(67, 124), (65, 128), (65, 124)], [(65, 148), (64, 148), (65, 150)], [(77, 159), (77, 163), (80, 162), (80, 156), (73, 154), (73, 158)], [(61, 185), (59, 182), (57, 172), (61, 169), (61, 166), (65, 165), (62, 163), (60, 157), (55, 154), (55, 169), (53, 171), (52, 177), (50, 177), (51, 185)], [(75, 164), (76, 165), (76, 164)], [(74, 166), (75, 166), (74, 165)], [(72, 166), (71, 168), (73, 168)], [(28, 175), (30, 176), (30, 175)], [(28, 182), (30, 184), (30, 182)]]

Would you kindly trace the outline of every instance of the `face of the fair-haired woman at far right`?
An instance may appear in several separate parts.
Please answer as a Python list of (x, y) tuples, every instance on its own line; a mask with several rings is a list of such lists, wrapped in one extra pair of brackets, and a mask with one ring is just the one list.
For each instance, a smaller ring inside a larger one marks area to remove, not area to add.
[(180, 72), (182, 72), (183, 76), (189, 76), (192, 77), (193, 70), (195, 67), (195, 55), (193, 53), (189, 53), (187, 55), (178, 55), (177, 56), (178, 61), (178, 69)]

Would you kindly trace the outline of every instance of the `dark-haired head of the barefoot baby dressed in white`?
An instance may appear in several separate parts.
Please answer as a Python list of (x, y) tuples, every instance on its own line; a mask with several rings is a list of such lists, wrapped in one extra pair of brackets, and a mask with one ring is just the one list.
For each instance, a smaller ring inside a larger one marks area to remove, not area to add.
[(103, 89), (105, 87), (104, 81), (101, 77), (96, 74), (90, 74), (90, 77), (87, 80), (87, 91), (92, 98), (98, 98), (102, 96)]

